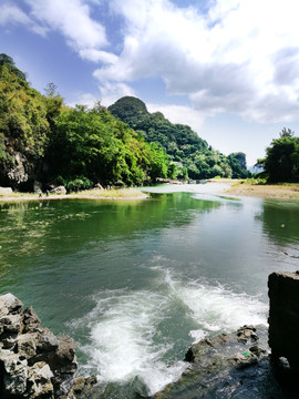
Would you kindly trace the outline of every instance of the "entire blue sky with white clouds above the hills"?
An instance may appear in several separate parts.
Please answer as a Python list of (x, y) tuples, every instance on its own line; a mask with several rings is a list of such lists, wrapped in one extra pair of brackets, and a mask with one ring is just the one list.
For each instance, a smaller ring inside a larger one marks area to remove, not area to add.
[(215, 150), (299, 132), (298, 0), (0, 0), (0, 53), (69, 105), (124, 95)]

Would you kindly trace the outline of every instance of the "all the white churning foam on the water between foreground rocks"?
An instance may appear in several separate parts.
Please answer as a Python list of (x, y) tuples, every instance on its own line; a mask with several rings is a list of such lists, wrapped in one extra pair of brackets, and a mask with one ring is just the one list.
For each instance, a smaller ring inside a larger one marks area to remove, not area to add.
[(190, 318), (190, 325), (198, 326), (189, 331), (194, 341), (244, 324), (266, 324), (267, 306), (258, 298), (234, 294), (220, 285), (174, 278), (172, 270), (157, 263), (151, 269), (157, 272), (158, 293), (101, 291), (94, 297), (94, 309), (73, 324), (74, 328), (80, 324), (87, 328), (89, 344), (83, 350), (89, 355), (87, 368), (97, 370), (100, 382), (138, 377), (148, 387), (148, 395), (154, 395), (178, 379), (187, 366), (183, 361), (169, 366), (167, 359), (176, 342), (162, 336), (159, 324), (167, 324), (169, 311), (179, 303), (188, 309), (184, 316)]

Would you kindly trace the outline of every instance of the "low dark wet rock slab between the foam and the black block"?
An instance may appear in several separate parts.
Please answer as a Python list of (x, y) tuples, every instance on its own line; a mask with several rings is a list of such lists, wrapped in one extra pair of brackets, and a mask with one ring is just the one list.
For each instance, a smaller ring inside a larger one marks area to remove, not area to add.
[(271, 372), (267, 339), (264, 326), (202, 339), (185, 356), (188, 369), (154, 398), (295, 398), (285, 395)]

